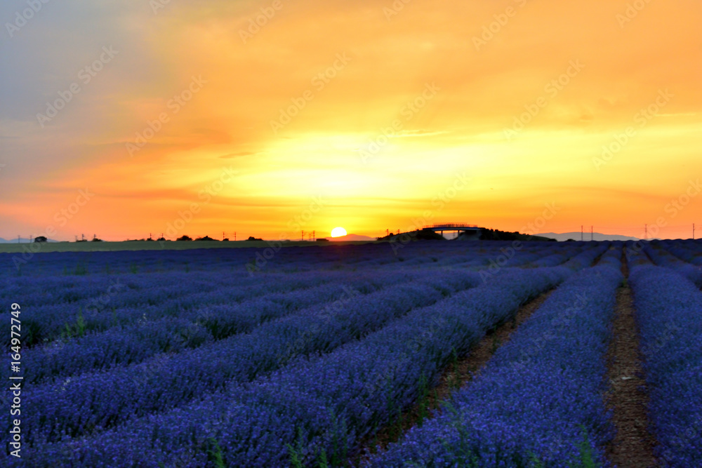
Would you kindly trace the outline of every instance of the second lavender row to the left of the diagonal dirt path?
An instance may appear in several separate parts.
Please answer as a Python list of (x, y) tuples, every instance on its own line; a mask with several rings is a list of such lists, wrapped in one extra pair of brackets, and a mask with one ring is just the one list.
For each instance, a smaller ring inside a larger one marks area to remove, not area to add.
[(157, 356), (138, 366), (28, 389), (25, 421), (31, 429), (27, 437), (54, 441), (179, 406), (232, 381), (251, 380), (300, 355), (329, 352), (414, 307), (478, 282), (476, 274), (467, 272), (443, 277), (432, 273), (366, 296), (350, 290), (336, 304), (267, 323), (250, 335), (193, 352)]

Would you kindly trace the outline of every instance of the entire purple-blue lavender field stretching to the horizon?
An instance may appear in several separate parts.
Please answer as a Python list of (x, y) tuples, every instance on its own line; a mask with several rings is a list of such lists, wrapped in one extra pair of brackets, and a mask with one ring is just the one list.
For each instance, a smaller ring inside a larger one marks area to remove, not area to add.
[[(0, 465), (607, 467), (638, 378), (654, 466), (702, 466), (702, 243), (395, 250), (0, 254), (23, 377)], [(614, 375), (626, 294), (641, 369)]]

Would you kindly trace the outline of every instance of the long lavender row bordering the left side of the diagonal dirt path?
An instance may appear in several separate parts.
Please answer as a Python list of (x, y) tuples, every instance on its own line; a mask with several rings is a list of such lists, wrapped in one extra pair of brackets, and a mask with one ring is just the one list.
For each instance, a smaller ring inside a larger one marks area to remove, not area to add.
[(465, 352), (522, 302), (599, 253), (588, 250), (569, 267), (505, 271), (490, 284), (411, 312), (326, 356), (93, 438), (35, 446), (29, 461), (38, 466), (48, 460), (95, 467), (203, 466), (216, 450), (227, 466), (284, 466), (291, 462), (286, 445), (305, 464), (323, 454), (342, 460), (344, 447), (352, 450), (411, 403), (421, 382), (435, 381), (454, 350)]

